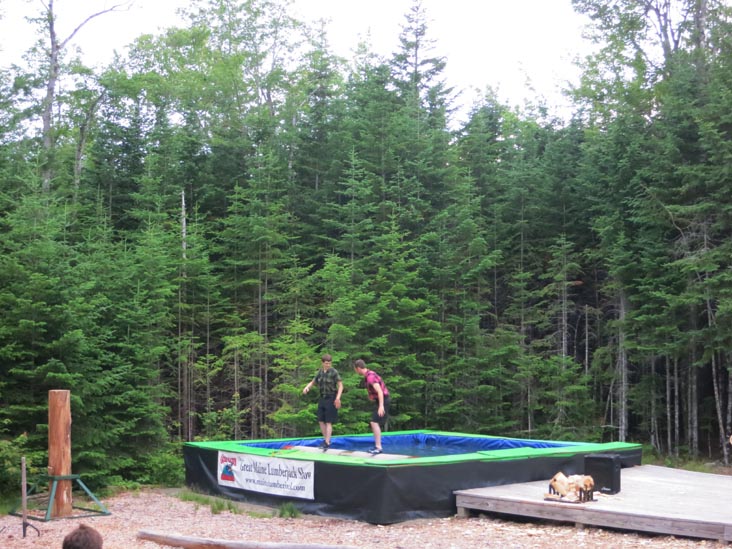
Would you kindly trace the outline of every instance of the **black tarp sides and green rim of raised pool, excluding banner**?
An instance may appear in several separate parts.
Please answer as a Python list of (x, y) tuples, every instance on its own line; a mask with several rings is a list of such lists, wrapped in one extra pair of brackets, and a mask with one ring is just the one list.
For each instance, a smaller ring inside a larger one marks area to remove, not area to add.
[[(387, 437), (410, 437), (424, 433), (426, 432), (385, 434), (384, 448), (386, 450), (388, 447)], [(437, 435), (445, 444), (449, 444), (447, 441), (454, 442), (455, 437), (468, 437), (475, 442), (484, 442), (486, 438), (499, 440), (498, 437), (427, 433)], [(368, 440), (360, 435), (355, 437), (364, 443)], [(504, 439), (508, 441), (503, 443), (503, 447), (508, 448), (504, 450), (378, 461), (329, 456), (326, 453), (297, 449), (298, 446), (315, 446), (320, 440), (313, 438), (188, 443), (184, 446), (186, 484), (193, 489), (237, 501), (273, 507), (289, 501), (305, 513), (362, 520), (373, 524), (391, 524), (415, 518), (454, 514), (455, 490), (549, 480), (558, 471), (567, 475), (584, 473), (586, 455), (618, 454), (623, 467), (639, 465), (641, 460), (641, 447), (637, 444), (549, 443), (549, 447), (536, 448), (518, 445), (531, 442), (541, 444), (545, 441), (522, 439)], [(219, 482), (220, 451), (254, 453), (264, 459), (276, 455), (279, 458), (312, 463), (313, 499), (283, 497), (222, 485)]]

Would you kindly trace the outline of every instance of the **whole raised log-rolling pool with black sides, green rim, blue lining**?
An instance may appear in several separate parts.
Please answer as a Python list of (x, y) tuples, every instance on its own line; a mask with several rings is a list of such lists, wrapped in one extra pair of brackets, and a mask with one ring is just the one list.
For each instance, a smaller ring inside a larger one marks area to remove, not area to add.
[(584, 458), (617, 454), (640, 465), (639, 444), (564, 442), (445, 431), (384, 433), (384, 453), (368, 453), (371, 435), (189, 442), (186, 484), (237, 501), (277, 507), (292, 502), (318, 515), (391, 524), (456, 512), (455, 490), (548, 480), (584, 473)]

